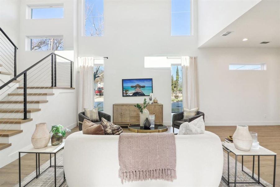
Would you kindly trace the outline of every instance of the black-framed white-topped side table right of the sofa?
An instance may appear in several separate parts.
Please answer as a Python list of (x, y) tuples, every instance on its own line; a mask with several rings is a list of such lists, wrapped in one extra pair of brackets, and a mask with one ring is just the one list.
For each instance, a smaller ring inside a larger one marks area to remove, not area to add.
[[(275, 187), (275, 171), (276, 171), (276, 153), (259, 146), (259, 149), (251, 149), (250, 151), (241, 151), (239, 149), (236, 149), (233, 145), (233, 143), (227, 143), (222, 142), (223, 150), (227, 151), (227, 179), (222, 176), (222, 180), (229, 186), (229, 184), (233, 184), (236, 186), (236, 184), (259, 184), (262, 186), (265, 186), (259, 181), (259, 156), (274, 156), (274, 168), (273, 168), (273, 187)], [(229, 181), (229, 153), (232, 152), (235, 155), (235, 176), (234, 176), (234, 182)], [(236, 181), (236, 173), (237, 173), (237, 156), (242, 156), (242, 171), (248, 175), (251, 179), (253, 179), (255, 182), (237, 182)], [(253, 169), (252, 169), (252, 175), (247, 173), (243, 170), (243, 156), (253, 156)], [(258, 179), (254, 177), (254, 169), (255, 169), (255, 156), (258, 156)]]

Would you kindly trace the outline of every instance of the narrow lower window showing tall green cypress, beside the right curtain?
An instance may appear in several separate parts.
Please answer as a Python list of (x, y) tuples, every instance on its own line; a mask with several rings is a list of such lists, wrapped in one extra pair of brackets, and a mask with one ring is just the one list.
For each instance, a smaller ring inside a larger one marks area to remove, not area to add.
[(181, 64), (171, 65), (171, 112), (183, 111), (182, 67)]

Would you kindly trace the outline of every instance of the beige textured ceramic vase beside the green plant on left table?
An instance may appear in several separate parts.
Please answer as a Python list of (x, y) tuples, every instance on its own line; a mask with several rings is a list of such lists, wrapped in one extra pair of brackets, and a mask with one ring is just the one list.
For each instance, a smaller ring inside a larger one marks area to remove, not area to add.
[(47, 123), (36, 124), (35, 131), (31, 137), (31, 143), (35, 149), (46, 147), (50, 141), (51, 135), (47, 129)]

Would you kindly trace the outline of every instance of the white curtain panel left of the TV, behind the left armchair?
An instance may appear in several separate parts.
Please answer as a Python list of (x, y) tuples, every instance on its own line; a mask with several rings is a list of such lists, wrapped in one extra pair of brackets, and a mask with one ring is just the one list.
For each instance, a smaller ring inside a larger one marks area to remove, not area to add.
[(94, 58), (79, 57), (79, 93), (78, 93), (78, 112), (84, 108), (93, 109), (94, 107)]

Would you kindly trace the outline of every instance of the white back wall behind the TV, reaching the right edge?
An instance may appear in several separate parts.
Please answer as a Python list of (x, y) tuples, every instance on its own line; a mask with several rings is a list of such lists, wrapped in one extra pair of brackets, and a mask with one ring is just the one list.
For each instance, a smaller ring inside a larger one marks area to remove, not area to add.
[[(79, 2), (78, 25), (81, 10)], [(171, 71), (144, 68), (144, 57), (198, 56), (200, 109), (207, 115), (207, 125), (279, 124), (279, 50), (197, 49), (196, 24), (194, 36), (170, 35), (170, 1), (104, 1), (104, 24), (103, 37), (82, 37), (78, 27), (78, 55), (108, 56), (104, 61), (106, 113), (112, 115), (113, 103), (144, 99), (122, 97), (122, 79), (153, 78), (154, 96), (163, 103), (163, 122), (170, 125)], [(268, 70), (230, 72), (228, 64), (235, 62), (265, 62)]]

